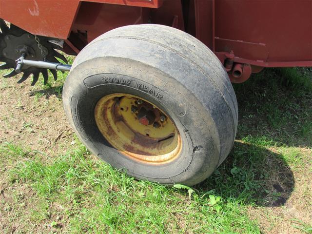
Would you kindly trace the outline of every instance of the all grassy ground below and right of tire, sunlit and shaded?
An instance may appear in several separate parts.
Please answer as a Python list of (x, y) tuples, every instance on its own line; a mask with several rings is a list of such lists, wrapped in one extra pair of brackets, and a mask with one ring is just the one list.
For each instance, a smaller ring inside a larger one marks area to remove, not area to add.
[[(286, 232), (287, 222), (293, 228), (289, 233), (311, 233), (311, 224), (272, 213), (288, 209), (284, 205), (290, 200), (302, 216), (312, 205), (309, 74), (309, 68), (266, 69), (235, 84), (239, 125), (234, 148), (210, 178), (192, 188), (135, 180), (97, 159), (77, 137), (66, 151), (53, 143), (57, 149), (51, 154), (31, 150), (27, 142), (3, 141), (0, 212), (6, 219), (0, 232), (12, 232), (19, 220), (21, 233), (259, 234)], [(58, 81), (50, 78), (43, 85), (41, 78), (35, 85), (30, 98), (38, 109), (49, 107), (51, 95), (61, 105), (66, 74), (58, 75)], [(5, 82), (3, 89), (13, 89)], [(22, 100), (16, 103), (15, 108), (27, 110)], [(13, 117), (3, 121), (8, 118)], [(34, 123), (25, 118), (21, 127), (29, 130)], [(262, 216), (252, 213), (263, 210)]]

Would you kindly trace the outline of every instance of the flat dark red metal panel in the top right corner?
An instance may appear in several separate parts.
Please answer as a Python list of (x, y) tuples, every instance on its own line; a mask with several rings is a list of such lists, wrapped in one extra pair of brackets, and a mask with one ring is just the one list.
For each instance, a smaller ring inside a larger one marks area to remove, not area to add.
[[(217, 39), (216, 51), (264, 62), (312, 60), (311, 0), (218, 0), (215, 16), (215, 36), (228, 39)], [(250, 51), (250, 43), (259, 46)]]

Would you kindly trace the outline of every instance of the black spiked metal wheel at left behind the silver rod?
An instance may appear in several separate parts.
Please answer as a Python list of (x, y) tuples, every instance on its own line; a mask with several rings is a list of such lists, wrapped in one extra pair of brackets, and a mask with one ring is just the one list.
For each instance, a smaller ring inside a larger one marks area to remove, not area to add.
[[(0, 19), (0, 62), (4, 62), (0, 65), (0, 70), (4, 69), (15, 69), (16, 67), (16, 59), (19, 59), (21, 56), (18, 48), (21, 46), (26, 46), (31, 53), (26, 56), (26, 59), (43, 61), (44, 56), (41, 54), (41, 51), (38, 47), (38, 44), (35, 40), (35, 36), (20, 29), (19, 27), (11, 24), (10, 27), (7, 26), (6, 22)], [(47, 38), (42, 36), (37, 36), (40, 44), (43, 47), (45, 53), (45, 59), (49, 62), (58, 63), (61, 59), (65, 63), (67, 63), (67, 59), (60, 54), (56, 49), (62, 50), (62, 47), (59, 43), (55, 43), (55, 41), (59, 41), (59, 39)], [(57, 59), (58, 58), (58, 59)], [(54, 79), (57, 79), (57, 72), (55, 70), (50, 70)], [(22, 71), (23, 76), (20, 78), (18, 83), (25, 81), (29, 76), (33, 75), (33, 82), (31, 85), (35, 85), (39, 79), (39, 74), (41, 73), (43, 76), (44, 84), (48, 82), (48, 69), (46, 68), (37, 68), (37, 67), (29, 67), (23, 66)], [(18, 73), (13, 70), (8, 74), (4, 75), (4, 78), (14, 77)]]

